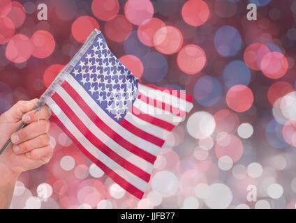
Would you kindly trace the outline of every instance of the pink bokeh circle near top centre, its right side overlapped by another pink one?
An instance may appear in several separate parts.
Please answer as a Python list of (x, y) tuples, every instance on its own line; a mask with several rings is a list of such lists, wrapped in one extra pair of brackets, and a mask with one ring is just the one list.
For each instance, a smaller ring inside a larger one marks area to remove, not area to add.
[(165, 23), (158, 18), (151, 18), (150, 20), (146, 20), (138, 27), (139, 40), (149, 47), (154, 46), (154, 34), (163, 26), (165, 26)]

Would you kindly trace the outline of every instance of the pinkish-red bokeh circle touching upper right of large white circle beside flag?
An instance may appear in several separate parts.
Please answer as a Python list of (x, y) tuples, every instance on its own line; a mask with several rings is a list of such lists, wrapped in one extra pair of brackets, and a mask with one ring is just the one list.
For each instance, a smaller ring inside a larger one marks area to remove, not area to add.
[(221, 109), (214, 114), (216, 121), (215, 132), (235, 133), (239, 126), (239, 118), (229, 109)]

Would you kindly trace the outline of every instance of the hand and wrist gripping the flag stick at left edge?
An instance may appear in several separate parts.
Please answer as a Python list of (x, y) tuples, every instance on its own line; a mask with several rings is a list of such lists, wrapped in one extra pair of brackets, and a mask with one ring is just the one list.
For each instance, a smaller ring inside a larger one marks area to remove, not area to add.
[[(12, 145), (0, 156), (0, 208), (9, 208), (18, 176), (50, 161), (52, 147), (48, 118), (50, 109), (34, 110), (38, 99), (17, 102), (0, 116), (0, 147), (10, 138)], [(20, 123), (28, 125), (15, 130)]]

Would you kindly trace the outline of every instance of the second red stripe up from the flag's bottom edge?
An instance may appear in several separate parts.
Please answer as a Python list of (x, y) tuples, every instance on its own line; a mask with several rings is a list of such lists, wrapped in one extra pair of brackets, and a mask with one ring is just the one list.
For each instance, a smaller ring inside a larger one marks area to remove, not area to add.
[(77, 115), (73, 112), (73, 110), (68, 107), (66, 102), (61, 98), (60, 95), (57, 93), (54, 93), (52, 95), (52, 99), (54, 102), (59, 105), (61, 110), (67, 114), (68, 118), (72, 121), (72, 123), (77, 127), (78, 130), (84, 135), (85, 138), (87, 138), (91, 144), (94, 144), (98, 150), (100, 150), (102, 153), (105, 153), (105, 155), (108, 155), (110, 159), (114, 160), (114, 162), (117, 162), (121, 167), (124, 167), (126, 170), (130, 171), (131, 173), (135, 174), (135, 176), (138, 176), (142, 180), (145, 180), (146, 182), (150, 179), (150, 174), (143, 171), (139, 167), (135, 166), (131, 162), (128, 162), (128, 160), (125, 160), (123, 157), (112, 151), (107, 145), (105, 145), (98, 137), (96, 137), (90, 130), (87, 128), (87, 126), (82, 123), (80, 118), (77, 117)]

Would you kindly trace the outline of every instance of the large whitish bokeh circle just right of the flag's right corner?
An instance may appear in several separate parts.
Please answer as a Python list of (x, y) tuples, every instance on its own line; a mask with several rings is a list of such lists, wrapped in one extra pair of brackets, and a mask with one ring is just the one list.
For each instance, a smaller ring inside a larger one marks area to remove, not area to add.
[(205, 139), (215, 130), (216, 123), (212, 114), (195, 112), (187, 121), (187, 131), (195, 139)]

